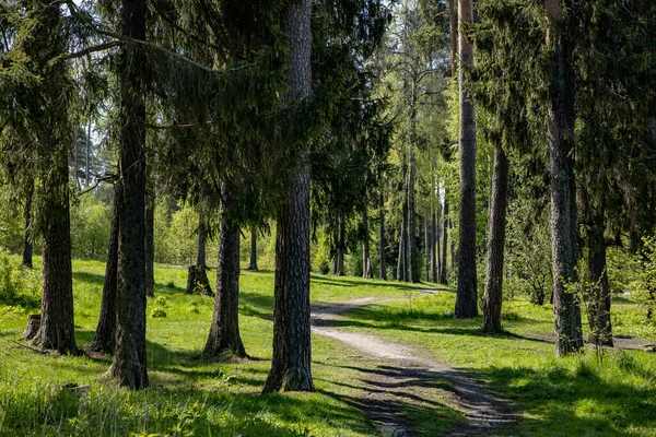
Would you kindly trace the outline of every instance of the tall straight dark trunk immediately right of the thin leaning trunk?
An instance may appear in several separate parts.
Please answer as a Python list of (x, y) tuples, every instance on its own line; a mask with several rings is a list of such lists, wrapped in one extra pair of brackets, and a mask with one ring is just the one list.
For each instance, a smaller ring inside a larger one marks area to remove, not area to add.
[[(122, 35), (145, 40), (145, 0), (122, 0)], [(147, 388), (145, 361), (145, 76), (144, 56), (124, 45), (119, 59), (121, 205), (118, 232), (116, 346), (109, 374), (118, 386)]]

